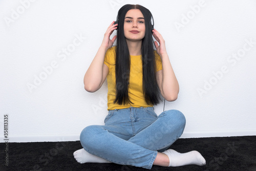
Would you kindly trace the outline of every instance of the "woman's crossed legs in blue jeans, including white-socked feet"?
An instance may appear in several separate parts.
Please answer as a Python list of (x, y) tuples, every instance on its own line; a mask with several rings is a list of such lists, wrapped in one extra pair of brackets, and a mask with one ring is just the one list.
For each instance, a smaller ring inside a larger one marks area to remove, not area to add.
[[(155, 118), (154, 122), (132, 138), (122, 127), (118, 127), (116, 131), (116, 126), (91, 125), (86, 127), (80, 136), (83, 148), (74, 153), (76, 160), (80, 163), (114, 162), (148, 169), (153, 164), (180, 166), (205, 163), (201, 154), (196, 151), (186, 154), (180, 154), (171, 149), (163, 153), (158, 152), (161, 149), (167, 149), (183, 133), (185, 117), (177, 110), (163, 112)], [(136, 126), (134, 127), (136, 129)]]

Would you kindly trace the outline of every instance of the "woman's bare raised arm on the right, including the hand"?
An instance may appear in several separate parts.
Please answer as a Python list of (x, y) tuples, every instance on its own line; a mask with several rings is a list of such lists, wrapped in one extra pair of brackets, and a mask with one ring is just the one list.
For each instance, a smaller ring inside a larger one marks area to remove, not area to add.
[(156, 30), (153, 30), (153, 36), (159, 42), (155, 41), (157, 53), (161, 57), (163, 70), (157, 72), (157, 83), (160, 92), (167, 101), (175, 101), (178, 98), (179, 83), (175, 76), (172, 65), (165, 48), (165, 41), (162, 35)]

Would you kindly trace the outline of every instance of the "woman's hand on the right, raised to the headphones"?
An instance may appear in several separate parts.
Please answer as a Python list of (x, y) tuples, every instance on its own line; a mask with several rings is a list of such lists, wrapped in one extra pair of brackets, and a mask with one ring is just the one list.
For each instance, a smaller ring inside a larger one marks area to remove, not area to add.
[[(160, 55), (160, 57), (162, 57), (163, 54), (167, 53), (165, 48), (165, 41), (162, 35), (156, 29), (152, 30), (152, 32), (153, 32), (153, 36), (157, 40), (154, 42), (156, 46), (157, 54)], [(159, 45), (158, 45), (158, 42), (159, 42)]]

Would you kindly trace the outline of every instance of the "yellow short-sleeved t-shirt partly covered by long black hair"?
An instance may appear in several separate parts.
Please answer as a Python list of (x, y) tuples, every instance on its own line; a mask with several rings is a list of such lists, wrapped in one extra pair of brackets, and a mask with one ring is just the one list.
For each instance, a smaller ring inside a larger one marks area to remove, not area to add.
[[(115, 47), (112, 47), (106, 51), (104, 64), (108, 66), (109, 73), (106, 76), (108, 81), (108, 110), (114, 109), (125, 109), (133, 106), (135, 108), (149, 107), (153, 105), (148, 105), (144, 99), (143, 87), (142, 87), (142, 56), (130, 56), (131, 57), (131, 71), (130, 71), (130, 82), (128, 87), (129, 99), (133, 104), (118, 104), (114, 103), (116, 99), (116, 70), (115, 70), (115, 60), (116, 51)], [(156, 53), (156, 71), (162, 70), (162, 60), (161, 57)]]

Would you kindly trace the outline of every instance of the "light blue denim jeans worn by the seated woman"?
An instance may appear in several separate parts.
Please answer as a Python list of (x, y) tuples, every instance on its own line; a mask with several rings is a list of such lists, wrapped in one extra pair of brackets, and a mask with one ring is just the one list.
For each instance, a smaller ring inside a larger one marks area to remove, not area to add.
[(82, 147), (113, 163), (151, 169), (157, 152), (165, 151), (182, 135), (186, 120), (177, 110), (157, 116), (153, 107), (130, 107), (109, 111), (104, 122), (83, 129)]

